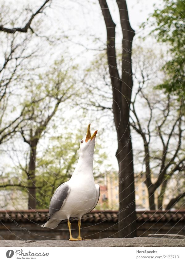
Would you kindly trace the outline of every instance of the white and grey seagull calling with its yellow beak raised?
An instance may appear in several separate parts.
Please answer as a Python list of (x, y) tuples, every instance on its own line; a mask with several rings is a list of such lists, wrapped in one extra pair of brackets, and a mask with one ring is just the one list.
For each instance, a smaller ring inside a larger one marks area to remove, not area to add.
[[(80, 157), (69, 181), (60, 185), (49, 206), (49, 219), (42, 227), (55, 228), (68, 221), (69, 240), (84, 240), (80, 235), (81, 218), (92, 211), (100, 197), (100, 187), (93, 177), (93, 155), (97, 130), (91, 136), (90, 125), (80, 141)], [(71, 234), (70, 219), (78, 218), (78, 238)]]

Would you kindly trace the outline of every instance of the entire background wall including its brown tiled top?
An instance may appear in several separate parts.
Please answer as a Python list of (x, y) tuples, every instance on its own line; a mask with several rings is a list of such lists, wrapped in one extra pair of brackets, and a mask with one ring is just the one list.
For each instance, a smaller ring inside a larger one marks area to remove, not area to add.
[[(137, 211), (137, 236), (148, 234), (185, 235), (185, 210)], [(67, 222), (55, 229), (43, 228), (48, 210), (0, 210), (0, 239), (6, 240), (52, 240), (68, 239)], [(72, 222), (72, 235), (77, 237), (77, 221)], [(81, 221), (81, 235), (90, 239), (117, 238), (118, 212), (98, 211), (85, 214)]]

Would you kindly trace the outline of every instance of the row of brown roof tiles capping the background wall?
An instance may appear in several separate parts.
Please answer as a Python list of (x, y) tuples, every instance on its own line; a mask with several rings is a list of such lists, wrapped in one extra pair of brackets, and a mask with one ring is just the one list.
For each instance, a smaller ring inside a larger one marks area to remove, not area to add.
[[(118, 211), (93, 210), (83, 216), (83, 222), (117, 222)], [(185, 210), (176, 211), (136, 211), (138, 222), (185, 222)], [(38, 210), (0, 210), (1, 222), (46, 222), (48, 209)]]

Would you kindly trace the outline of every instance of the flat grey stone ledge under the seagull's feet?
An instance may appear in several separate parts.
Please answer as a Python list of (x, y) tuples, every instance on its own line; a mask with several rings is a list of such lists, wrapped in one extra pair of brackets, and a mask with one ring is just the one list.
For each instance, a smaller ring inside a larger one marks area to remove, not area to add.
[(0, 247), (185, 247), (185, 239), (176, 238), (104, 238), (82, 241), (69, 240), (0, 240)]

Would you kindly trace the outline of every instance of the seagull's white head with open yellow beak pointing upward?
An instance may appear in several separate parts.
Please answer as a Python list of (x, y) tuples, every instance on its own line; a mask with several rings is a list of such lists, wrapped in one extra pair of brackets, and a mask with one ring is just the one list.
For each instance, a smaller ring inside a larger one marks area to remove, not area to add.
[(86, 156), (86, 157), (93, 157), (94, 154), (94, 146), (95, 146), (95, 137), (97, 134), (97, 130), (94, 132), (93, 135), (91, 135), (90, 130), (91, 124), (88, 124), (87, 127), (87, 133), (86, 135), (81, 139), (80, 142), (80, 156)]

